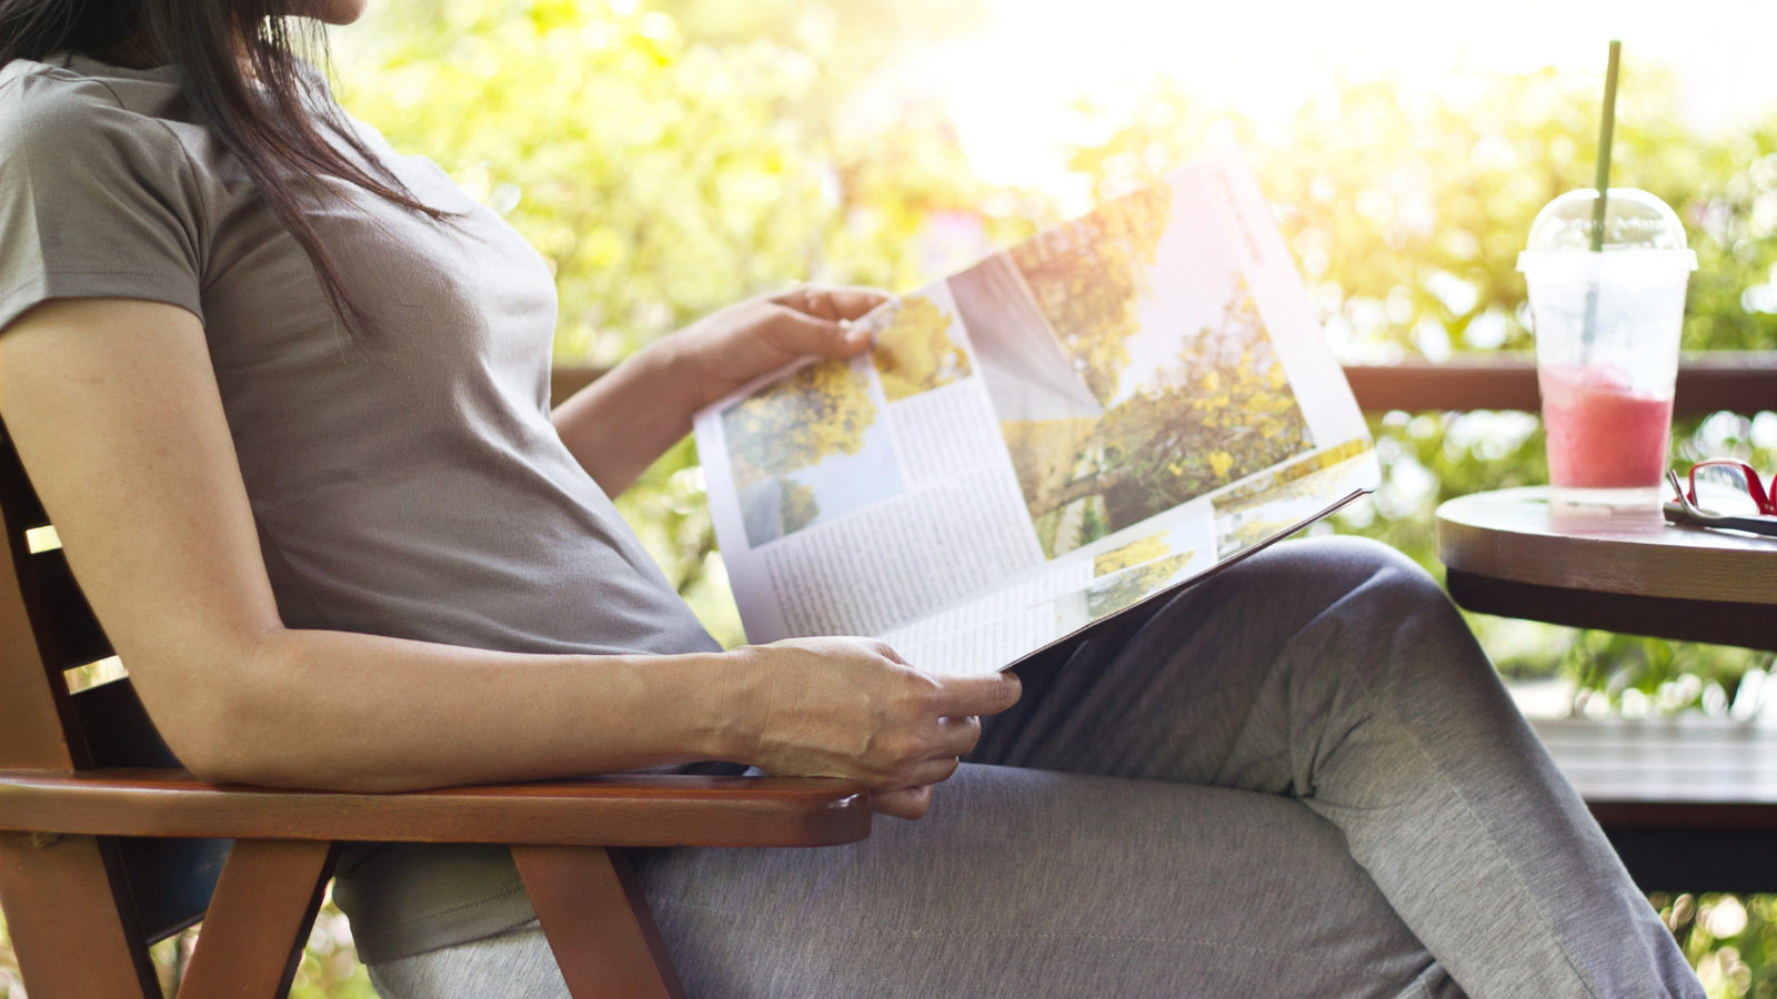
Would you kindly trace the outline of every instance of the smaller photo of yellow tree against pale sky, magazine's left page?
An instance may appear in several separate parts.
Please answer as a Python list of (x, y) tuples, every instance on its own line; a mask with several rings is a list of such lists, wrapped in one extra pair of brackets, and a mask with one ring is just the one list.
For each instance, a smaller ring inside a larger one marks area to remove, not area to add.
[(748, 547), (903, 491), (865, 359), (828, 359), (721, 412)]

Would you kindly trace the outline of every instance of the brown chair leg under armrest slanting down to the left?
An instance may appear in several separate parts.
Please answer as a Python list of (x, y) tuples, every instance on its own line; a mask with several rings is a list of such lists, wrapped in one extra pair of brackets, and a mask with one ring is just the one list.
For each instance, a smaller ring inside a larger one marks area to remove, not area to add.
[(236, 839), (179, 999), (284, 999), (338, 857), (338, 843)]

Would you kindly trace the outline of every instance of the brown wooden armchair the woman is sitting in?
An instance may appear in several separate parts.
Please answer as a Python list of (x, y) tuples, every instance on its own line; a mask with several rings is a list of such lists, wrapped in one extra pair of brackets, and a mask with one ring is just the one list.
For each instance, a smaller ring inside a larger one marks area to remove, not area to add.
[[(203, 919), (179, 999), (281, 999), (339, 846), (506, 843), (576, 999), (682, 995), (624, 846), (821, 846), (869, 835), (862, 784), (595, 777), (414, 795), (204, 784), (112, 654), (0, 427), (0, 907), (32, 999), (160, 999), (147, 946)], [(43, 547), (43, 546), (39, 546)]]

